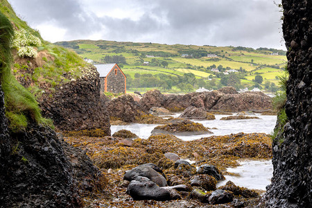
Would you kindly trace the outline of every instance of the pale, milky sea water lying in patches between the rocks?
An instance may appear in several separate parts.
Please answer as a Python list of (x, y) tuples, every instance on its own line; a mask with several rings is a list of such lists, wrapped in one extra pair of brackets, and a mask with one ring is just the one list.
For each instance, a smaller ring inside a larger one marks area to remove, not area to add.
[[(180, 116), (180, 113), (173, 114), (173, 117)], [(177, 138), (183, 141), (191, 141), (200, 139), (202, 137), (221, 136), (244, 133), (266, 133), (270, 135), (275, 127), (277, 116), (254, 114), (259, 119), (243, 119), (243, 120), (220, 120), (228, 115), (217, 114), (216, 120), (191, 120), (194, 122), (202, 123), (205, 127), (211, 128), (213, 134), (203, 135), (176, 135)], [(111, 132), (118, 132), (119, 130), (129, 130), (135, 133), (141, 139), (148, 139), (152, 130), (157, 124), (142, 124), (131, 123), (128, 125), (112, 125)], [(187, 158), (184, 158), (187, 159)], [(187, 159), (189, 162), (194, 163)], [(248, 189), (257, 189), (266, 191), (266, 186), (270, 184), (272, 177), (273, 167), (271, 160), (242, 160), (239, 162), (240, 166), (235, 168), (227, 168), (227, 172), (235, 173), (236, 175), (225, 175), (225, 180), (218, 182), (217, 187), (223, 186), (227, 181), (231, 180), (240, 187)]]

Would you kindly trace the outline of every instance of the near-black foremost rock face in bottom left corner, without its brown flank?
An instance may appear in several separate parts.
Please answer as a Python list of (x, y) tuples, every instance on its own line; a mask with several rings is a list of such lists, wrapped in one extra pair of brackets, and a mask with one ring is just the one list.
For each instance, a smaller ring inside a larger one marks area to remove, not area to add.
[[(1, 151), (0, 207), (80, 207), (71, 166), (49, 128), (28, 125)], [(2, 142), (2, 138), (1, 138)]]

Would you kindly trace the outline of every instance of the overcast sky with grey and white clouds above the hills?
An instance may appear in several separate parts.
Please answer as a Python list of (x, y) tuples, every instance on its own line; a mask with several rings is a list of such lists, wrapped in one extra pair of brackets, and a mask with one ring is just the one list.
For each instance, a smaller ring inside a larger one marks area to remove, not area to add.
[(273, 0), (8, 1), (50, 42), (88, 39), (286, 49), (282, 13)]

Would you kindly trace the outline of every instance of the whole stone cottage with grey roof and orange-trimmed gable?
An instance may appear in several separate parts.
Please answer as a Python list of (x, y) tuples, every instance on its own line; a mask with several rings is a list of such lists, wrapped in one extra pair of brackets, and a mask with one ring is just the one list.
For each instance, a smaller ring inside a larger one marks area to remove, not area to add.
[(100, 73), (101, 92), (125, 93), (127, 78), (118, 64), (94, 65)]

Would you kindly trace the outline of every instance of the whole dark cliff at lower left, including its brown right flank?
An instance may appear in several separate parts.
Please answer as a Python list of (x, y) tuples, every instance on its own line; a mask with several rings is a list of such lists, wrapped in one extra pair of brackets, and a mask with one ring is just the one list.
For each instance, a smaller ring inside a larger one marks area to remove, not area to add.
[(8, 131), (0, 86), (0, 207), (82, 207), (80, 196), (107, 182), (86, 153), (50, 128)]

